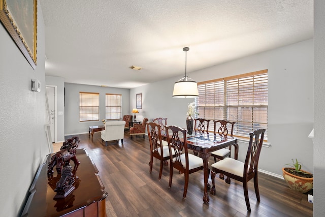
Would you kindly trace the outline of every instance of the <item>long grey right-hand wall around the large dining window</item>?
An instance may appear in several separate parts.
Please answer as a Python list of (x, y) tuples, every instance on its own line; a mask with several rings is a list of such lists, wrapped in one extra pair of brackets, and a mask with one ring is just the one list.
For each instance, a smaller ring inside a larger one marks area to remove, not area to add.
[[(187, 64), (189, 66), (189, 64)], [(188, 67), (189, 68), (189, 67)], [(259, 169), (282, 176), (284, 164), (298, 159), (313, 172), (313, 146), (308, 138), (313, 128), (313, 40), (281, 47), (210, 67), (188, 76), (198, 82), (267, 69), (269, 72), (268, 142), (259, 159)], [(130, 91), (131, 107), (142, 92), (139, 118), (168, 117), (168, 125), (185, 127), (188, 103), (193, 99), (172, 98), (174, 82), (181, 76), (151, 83)], [(241, 143), (244, 161), (247, 144)]]

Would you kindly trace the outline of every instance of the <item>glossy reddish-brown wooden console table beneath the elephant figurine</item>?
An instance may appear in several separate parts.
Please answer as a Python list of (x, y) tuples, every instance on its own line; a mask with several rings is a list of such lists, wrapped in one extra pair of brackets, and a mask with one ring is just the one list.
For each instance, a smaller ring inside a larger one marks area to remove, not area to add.
[[(85, 149), (77, 149), (80, 165), (75, 171), (75, 190), (65, 198), (54, 199), (57, 172), (47, 175), (47, 165), (52, 154), (40, 166), (29, 190), (29, 197), (22, 216), (106, 216), (107, 192), (98, 175), (99, 171)], [(74, 163), (71, 161), (71, 166)], [(60, 175), (59, 175), (60, 177)]]

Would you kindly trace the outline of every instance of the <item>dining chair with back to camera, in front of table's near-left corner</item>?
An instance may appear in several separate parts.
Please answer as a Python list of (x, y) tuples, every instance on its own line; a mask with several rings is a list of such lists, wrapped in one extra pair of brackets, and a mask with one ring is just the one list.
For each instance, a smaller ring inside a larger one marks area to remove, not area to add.
[[(193, 154), (188, 153), (186, 133), (187, 130), (176, 127), (166, 126), (167, 141), (170, 155), (170, 175), (169, 175), (169, 188), (172, 187), (173, 168), (179, 172), (184, 173), (184, 193), (183, 199), (186, 198), (189, 174), (203, 169), (203, 159)], [(175, 156), (173, 157), (173, 153)], [(210, 173), (210, 171), (209, 171)]]

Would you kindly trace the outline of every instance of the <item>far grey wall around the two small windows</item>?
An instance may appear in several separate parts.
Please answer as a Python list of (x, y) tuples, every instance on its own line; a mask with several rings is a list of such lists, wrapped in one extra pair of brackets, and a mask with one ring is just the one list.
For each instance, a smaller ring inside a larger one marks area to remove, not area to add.
[[(103, 125), (105, 119), (105, 95), (122, 95), (122, 117), (124, 114), (131, 114), (129, 111), (129, 89), (101, 87), (93, 85), (65, 83), (66, 106), (64, 107), (64, 135), (75, 135), (88, 133), (89, 126)], [(99, 121), (79, 121), (79, 92), (99, 92), (100, 93), (100, 120)]]

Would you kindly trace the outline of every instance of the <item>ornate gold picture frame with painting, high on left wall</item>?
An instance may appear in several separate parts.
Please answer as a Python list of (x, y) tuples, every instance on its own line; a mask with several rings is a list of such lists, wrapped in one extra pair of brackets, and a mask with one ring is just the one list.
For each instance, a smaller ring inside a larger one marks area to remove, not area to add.
[(0, 21), (30, 66), (36, 69), (37, 0), (0, 0)]

